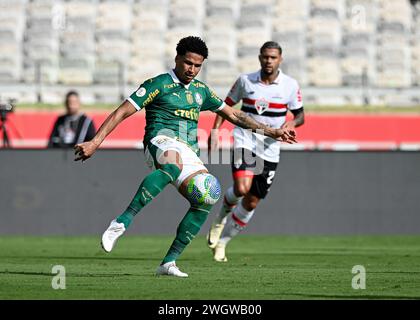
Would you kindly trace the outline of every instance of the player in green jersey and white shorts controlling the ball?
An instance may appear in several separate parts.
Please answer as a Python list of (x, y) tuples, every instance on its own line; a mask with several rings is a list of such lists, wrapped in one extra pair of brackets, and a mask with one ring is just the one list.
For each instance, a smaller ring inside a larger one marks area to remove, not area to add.
[(153, 170), (141, 182), (127, 209), (111, 221), (102, 235), (102, 247), (110, 252), (133, 218), (168, 185), (173, 184), (191, 204), (176, 230), (176, 237), (156, 270), (157, 275), (187, 277), (175, 261), (200, 231), (212, 205), (197, 204), (188, 198), (187, 185), (207, 173), (198, 157), (197, 123), (200, 111), (216, 112), (242, 128), (263, 131), (264, 135), (294, 143), (295, 131), (273, 129), (256, 122), (244, 112), (226, 105), (209, 87), (196, 80), (208, 49), (198, 37), (185, 37), (176, 47), (175, 69), (146, 80), (137, 91), (113, 111), (95, 137), (75, 146), (75, 161), (87, 160), (115, 127), (136, 111), (146, 110), (144, 149), (147, 165)]

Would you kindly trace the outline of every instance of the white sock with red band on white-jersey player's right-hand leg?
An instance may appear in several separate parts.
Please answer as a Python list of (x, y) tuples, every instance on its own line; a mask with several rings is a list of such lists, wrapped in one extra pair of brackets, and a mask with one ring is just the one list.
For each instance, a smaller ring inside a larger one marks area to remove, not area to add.
[(245, 229), (249, 220), (254, 215), (255, 210), (247, 211), (242, 202), (239, 203), (233, 210), (232, 214), (227, 218), (226, 225), (220, 236), (219, 243), (226, 245), (233, 237)]

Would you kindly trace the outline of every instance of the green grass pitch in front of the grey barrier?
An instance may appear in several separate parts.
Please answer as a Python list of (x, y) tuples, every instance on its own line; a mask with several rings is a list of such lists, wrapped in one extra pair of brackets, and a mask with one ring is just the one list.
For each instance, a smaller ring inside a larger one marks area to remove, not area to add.
[[(98, 237), (0, 237), (0, 299), (420, 299), (418, 236), (250, 236), (212, 260), (197, 237), (178, 261), (189, 278), (156, 277), (172, 237), (126, 236), (105, 254)], [(66, 289), (54, 290), (54, 265)], [(366, 288), (352, 288), (352, 268)]]

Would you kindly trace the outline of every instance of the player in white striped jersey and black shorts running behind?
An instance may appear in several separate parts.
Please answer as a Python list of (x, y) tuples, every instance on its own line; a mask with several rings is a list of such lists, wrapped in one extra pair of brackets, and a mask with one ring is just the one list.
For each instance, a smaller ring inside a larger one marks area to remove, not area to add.
[[(261, 70), (242, 74), (231, 88), (225, 103), (234, 106), (271, 128), (292, 129), (304, 123), (302, 95), (297, 81), (280, 69), (283, 60), (278, 43), (269, 41), (260, 49)], [(286, 121), (287, 111), (294, 117)], [(224, 119), (216, 116), (209, 149), (217, 148), (218, 129)], [(255, 208), (273, 183), (280, 160), (280, 142), (236, 126), (233, 130), (233, 186), (224, 195), (223, 206), (207, 234), (208, 246), (216, 261), (227, 261), (226, 245), (251, 220)]]

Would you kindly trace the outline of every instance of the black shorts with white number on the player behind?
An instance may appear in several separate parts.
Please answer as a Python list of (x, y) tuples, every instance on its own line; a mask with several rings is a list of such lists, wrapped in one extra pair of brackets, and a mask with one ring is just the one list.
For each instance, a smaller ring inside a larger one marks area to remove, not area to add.
[(270, 191), (276, 174), (277, 162), (270, 162), (247, 149), (235, 149), (232, 153), (232, 175), (238, 177), (254, 177), (251, 190), (254, 196), (264, 199)]

